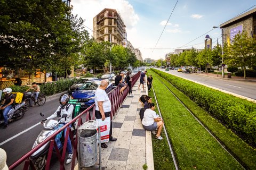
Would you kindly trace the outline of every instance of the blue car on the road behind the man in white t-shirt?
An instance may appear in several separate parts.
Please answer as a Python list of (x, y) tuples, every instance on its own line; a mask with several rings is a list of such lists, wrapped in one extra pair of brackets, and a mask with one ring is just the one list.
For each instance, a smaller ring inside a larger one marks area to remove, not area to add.
[[(81, 103), (81, 108), (88, 108), (94, 104), (95, 91), (100, 86), (101, 79), (91, 80), (85, 82), (78, 90), (71, 95), (72, 99), (78, 99), (78, 103)], [(109, 83), (106, 93), (113, 89), (113, 84)]]

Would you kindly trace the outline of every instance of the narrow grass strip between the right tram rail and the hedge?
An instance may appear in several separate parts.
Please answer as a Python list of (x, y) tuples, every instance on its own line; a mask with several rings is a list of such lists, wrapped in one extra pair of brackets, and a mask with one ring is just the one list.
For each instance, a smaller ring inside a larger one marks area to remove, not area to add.
[[(152, 71), (149, 71), (153, 74)], [(155, 77), (159, 75), (155, 74)], [(165, 85), (172, 90), (172, 92), (185, 104), (191, 112), (211, 131), (214, 135), (222, 141), (222, 143), (233, 154), (243, 162), (243, 165), (248, 169), (256, 169), (256, 151), (251, 146), (247, 145), (241, 138), (237, 137), (231, 130), (225, 128), (218, 120), (215, 120), (210, 114), (205, 112), (201, 107), (191, 101), (186, 95), (174, 88), (165, 79), (159, 77)], [(156, 80), (155, 78), (154, 80)]]

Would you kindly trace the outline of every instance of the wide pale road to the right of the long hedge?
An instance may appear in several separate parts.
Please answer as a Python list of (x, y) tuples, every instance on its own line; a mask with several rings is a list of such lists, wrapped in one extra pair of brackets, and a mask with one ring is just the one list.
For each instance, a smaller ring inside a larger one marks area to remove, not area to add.
[[(164, 69), (158, 69), (164, 71)], [(236, 81), (227, 79), (216, 79), (205, 77), (197, 74), (185, 74), (177, 70), (164, 71), (166, 73), (177, 75), (192, 81), (203, 83), (221, 90), (233, 92), (234, 94), (241, 95), (247, 98), (256, 99), (256, 82), (249, 81)]]

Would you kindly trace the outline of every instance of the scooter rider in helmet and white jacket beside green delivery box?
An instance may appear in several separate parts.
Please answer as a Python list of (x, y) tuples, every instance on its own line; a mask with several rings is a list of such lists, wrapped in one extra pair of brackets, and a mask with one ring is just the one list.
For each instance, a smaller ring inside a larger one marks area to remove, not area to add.
[[(46, 120), (50, 120), (55, 117), (62, 117), (63, 114), (67, 114), (67, 117), (63, 117), (60, 120), (61, 123), (67, 124), (72, 120), (72, 113), (74, 110), (74, 106), (72, 104), (68, 104), (69, 97), (66, 94), (61, 97), (60, 101), (61, 101), (61, 105), (58, 107), (57, 111), (53, 115), (47, 117)], [(69, 128), (71, 128), (71, 125), (69, 125)], [(65, 137), (66, 137), (66, 131), (67, 131), (67, 128), (64, 130)], [(68, 158), (67, 158), (66, 164), (69, 164), (73, 157), (72, 146), (71, 146), (71, 141), (69, 136), (68, 136), (68, 143), (67, 143), (67, 151), (68, 151)]]

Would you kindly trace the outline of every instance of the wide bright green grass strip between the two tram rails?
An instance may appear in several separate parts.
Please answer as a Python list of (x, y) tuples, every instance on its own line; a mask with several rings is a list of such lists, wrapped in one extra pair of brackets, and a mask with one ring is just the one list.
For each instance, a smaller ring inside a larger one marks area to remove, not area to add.
[(242, 169), (161, 81), (155, 78), (153, 86), (180, 169)]

